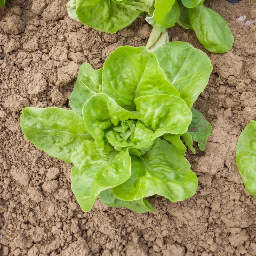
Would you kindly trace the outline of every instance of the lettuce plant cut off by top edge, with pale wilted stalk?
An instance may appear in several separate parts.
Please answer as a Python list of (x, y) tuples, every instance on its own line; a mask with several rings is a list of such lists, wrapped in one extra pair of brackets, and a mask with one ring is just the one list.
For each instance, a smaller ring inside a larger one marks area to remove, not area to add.
[[(72, 19), (97, 30), (116, 33), (137, 18), (145, 17), (155, 29), (147, 46), (156, 43), (176, 23), (193, 29), (199, 42), (210, 52), (231, 50), (234, 37), (219, 13), (203, 5), (204, 0), (70, 0)], [(168, 35), (167, 35), (168, 36)]]

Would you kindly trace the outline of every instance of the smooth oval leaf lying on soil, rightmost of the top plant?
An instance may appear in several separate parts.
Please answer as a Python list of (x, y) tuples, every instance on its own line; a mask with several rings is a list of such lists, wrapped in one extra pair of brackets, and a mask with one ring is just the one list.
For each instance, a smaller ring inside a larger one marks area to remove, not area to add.
[(205, 49), (214, 53), (231, 50), (234, 37), (227, 21), (218, 12), (204, 5), (196, 6), (189, 9), (189, 20), (199, 42)]

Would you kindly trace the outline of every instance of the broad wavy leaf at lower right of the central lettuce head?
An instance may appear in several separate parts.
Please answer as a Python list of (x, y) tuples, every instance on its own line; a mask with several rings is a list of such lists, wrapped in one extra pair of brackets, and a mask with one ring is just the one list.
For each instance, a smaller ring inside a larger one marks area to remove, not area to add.
[(131, 156), (131, 161), (131, 177), (113, 188), (114, 195), (121, 200), (139, 200), (157, 194), (177, 202), (196, 192), (198, 179), (188, 160), (166, 140), (156, 139), (144, 156)]

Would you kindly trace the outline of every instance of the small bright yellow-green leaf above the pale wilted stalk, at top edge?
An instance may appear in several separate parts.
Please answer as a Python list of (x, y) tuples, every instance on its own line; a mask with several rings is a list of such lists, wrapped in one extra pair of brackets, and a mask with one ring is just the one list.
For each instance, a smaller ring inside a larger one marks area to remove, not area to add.
[(171, 28), (179, 20), (180, 6), (177, 0), (156, 0), (154, 17), (156, 23)]

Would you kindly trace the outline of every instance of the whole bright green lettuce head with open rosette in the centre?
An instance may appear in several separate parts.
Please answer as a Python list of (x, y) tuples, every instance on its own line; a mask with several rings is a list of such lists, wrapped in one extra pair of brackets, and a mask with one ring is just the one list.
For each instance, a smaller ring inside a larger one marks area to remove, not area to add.
[(145, 197), (177, 202), (196, 192), (181, 137), (193, 152), (192, 140), (204, 150), (212, 127), (192, 106), (211, 72), (208, 56), (185, 42), (154, 53), (122, 46), (103, 68), (80, 67), (69, 100), (73, 110), (23, 108), (21, 129), (37, 148), (74, 164), (71, 187), (84, 211), (97, 198), (154, 211)]

